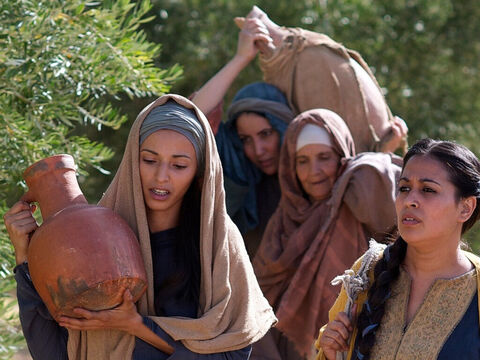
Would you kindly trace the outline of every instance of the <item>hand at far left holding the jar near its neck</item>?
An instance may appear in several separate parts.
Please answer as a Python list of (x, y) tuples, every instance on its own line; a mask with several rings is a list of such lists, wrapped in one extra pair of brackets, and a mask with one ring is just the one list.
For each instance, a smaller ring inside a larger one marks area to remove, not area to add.
[(38, 228), (38, 224), (32, 215), (34, 211), (35, 205), (20, 200), (3, 216), (8, 236), (15, 249), (17, 265), (27, 261), (30, 233)]

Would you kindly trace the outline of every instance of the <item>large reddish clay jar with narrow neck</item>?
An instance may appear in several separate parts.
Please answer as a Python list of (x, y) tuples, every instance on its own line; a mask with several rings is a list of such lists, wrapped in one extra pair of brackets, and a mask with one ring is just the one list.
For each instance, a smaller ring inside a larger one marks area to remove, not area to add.
[(52, 316), (78, 317), (75, 307), (114, 308), (124, 289), (138, 300), (147, 287), (138, 240), (112, 210), (87, 204), (73, 158), (43, 159), (23, 177), (29, 187), (23, 199), (38, 202), (43, 217), (28, 248), (30, 275)]

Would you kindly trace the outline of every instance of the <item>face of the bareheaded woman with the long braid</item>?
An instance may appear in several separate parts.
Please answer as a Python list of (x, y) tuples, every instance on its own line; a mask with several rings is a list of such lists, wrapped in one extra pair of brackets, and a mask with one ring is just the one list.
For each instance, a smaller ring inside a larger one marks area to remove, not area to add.
[(470, 217), (468, 203), (458, 199), (444, 165), (429, 156), (413, 156), (405, 165), (395, 207), (400, 235), (409, 245), (458, 243)]

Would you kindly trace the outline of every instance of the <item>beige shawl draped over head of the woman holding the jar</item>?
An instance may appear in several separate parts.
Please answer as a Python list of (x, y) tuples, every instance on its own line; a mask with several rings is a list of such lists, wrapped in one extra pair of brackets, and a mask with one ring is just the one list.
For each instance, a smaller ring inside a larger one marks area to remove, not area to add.
[[(154, 312), (150, 236), (139, 173), (139, 131), (147, 114), (173, 99), (193, 109), (206, 133), (202, 187), (200, 259), (201, 285), (197, 319), (157, 317)], [(213, 133), (202, 112), (187, 99), (165, 95), (148, 105), (132, 125), (115, 178), (100, 205), (120, 214), (137, 234), (145, 262), (148, 289), (138, 302), (174, 340), (193, 352), (216, 353), (241, 349), (259, 340), (276, 318), (263, 297), (242, 237), (225, 209), (220, 158)], [(116, 330), (69, 331), (70, 359), (131, 359), (135, 338)]]

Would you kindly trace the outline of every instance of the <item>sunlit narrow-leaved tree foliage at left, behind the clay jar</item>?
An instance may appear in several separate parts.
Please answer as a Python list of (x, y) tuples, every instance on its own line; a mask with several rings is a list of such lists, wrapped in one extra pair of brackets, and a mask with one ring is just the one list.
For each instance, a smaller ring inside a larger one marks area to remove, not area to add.
[[(140, 28), (153, 19), (150, 9), (148, 0), (0, 2), (2, 215), (24, 191), (22, 172), (37, 160), (69, 153), (81, 174), (87, 166), (102, 170), (113, 151), (86, 129), (119, 129), (127, 116), (117, 99), (160, 95), (181, 75), (176, 64), (154, 64), (160, 44)], [(10, 311), (12, 248), (0, 230), (0, 356), (9, 358), (21, 335)]]

